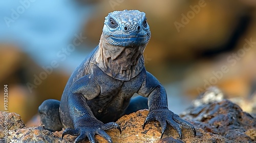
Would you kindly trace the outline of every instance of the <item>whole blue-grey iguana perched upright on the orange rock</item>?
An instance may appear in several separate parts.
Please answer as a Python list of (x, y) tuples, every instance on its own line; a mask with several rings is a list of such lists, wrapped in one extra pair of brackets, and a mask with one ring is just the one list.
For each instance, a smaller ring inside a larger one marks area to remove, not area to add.
[[(182, 137), (179, 124), (196, 130), (179, 115), (168, 110), (164, 87), (144, 66), (143, 52), (151, 38), (144, 12), (138, 10), (114, 11), (105, 17), (98, 46), (75, 69), (63, 91), (60, 102), (46, 100), (38, 108), (41, 122), (48, 130), (63, 131), (78, 136), (75, 142), (86, 137), (95, 142), (99, 134), (108, 142), (111, 137), (104, 131), (121, 129), (115, 121), (125, 114), (134, 93), (148, 98), (136, 100), (137, 105), (147, 102), (148, 122), (159, 121), (162, 135), (167, 123)], [(131, 105), (131, 104), (130, 104)], [(146, 107), (138, 107), (146, 108)]]

